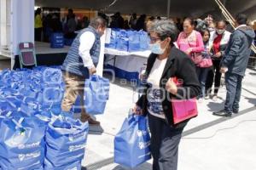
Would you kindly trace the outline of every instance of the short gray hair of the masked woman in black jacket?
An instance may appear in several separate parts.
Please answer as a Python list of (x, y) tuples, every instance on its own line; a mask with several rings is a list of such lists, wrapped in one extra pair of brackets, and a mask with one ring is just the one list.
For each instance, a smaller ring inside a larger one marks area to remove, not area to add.
[(166, 39), (166, 37), (171, 37), (171, 45), (173, 42), (177, 41), (177, 27), (173, 20), (154, 20), (149, 32), (156, 33), (161, 40)]

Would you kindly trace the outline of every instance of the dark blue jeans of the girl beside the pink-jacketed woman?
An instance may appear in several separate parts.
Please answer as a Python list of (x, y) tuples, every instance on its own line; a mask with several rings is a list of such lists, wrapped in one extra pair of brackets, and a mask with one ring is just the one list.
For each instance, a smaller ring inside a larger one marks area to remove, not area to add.
[(197, 77), (201, 83), (201, 95), (199, 96), (200, 98), (204, 98), (206, 96), (206, 82), (209, 71), (210, 68), (196, 67)]

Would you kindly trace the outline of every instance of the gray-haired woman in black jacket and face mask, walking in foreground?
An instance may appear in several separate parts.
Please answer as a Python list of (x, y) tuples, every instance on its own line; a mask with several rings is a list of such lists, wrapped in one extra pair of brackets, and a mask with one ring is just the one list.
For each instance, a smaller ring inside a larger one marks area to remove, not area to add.
[[(154, 21), (150, 40), (152, 54), (144, 75), (148, 83), (133, 112), (148, 115), (153, 170), (177, 170), (178, 144), (188, 120), (174, 124), (171, 99), (195, 98), (200, 82), (193, 61), (173, 45), (177, 27), (172, 20)], [(172, 77), (180, 78), (183, 87), (177, 88)]]

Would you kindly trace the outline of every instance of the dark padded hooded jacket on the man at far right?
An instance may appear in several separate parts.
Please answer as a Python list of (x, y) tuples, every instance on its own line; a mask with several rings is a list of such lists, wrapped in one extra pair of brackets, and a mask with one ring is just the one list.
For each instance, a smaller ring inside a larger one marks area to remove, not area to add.
[(254, 37), (255, 33), (249, 26), (241, 26), (234, 31), (221, 61), (221, 66), (228, 67), (230, 73), (244, 77)]

